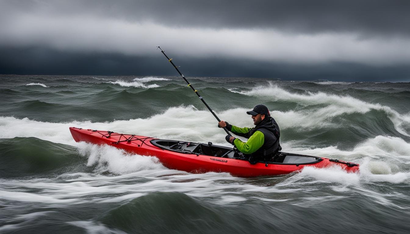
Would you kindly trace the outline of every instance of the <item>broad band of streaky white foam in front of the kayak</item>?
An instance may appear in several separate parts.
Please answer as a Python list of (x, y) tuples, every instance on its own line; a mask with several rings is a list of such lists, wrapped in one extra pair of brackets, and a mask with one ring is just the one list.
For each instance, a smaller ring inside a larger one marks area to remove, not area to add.
[[(118, 150), (118, 152), (122, 154), (121, 150)], [(137, 156), (134, 157), (137, 158)], [(114, 155), (112, 160), (116, 159), (117, 157)], [(125, 170), (124, 172), (128, 171)], [(340, 192), (341, 189), (349, 191), (346, 190), (346, 187), (352, 188), (352, 186), (355, 189), (365, 190), (362, 189), (362, 183), (399, 182), (392, 179), (398, 177), (398, 175), (383, 176), (390, 177), (391, 181), (386, 178), (376, 179), (373, 175), (362, 172), (360, 174), (346, 173), (339, 167), (304, 168), (298, 174), (266, 179), (269, 180), (269, 185), (267, 185), (265, 182), (258, 180), (255, 180), (255, 183), (253, 183), (249, 179), (231, 177), (228, 173), (190, 174), (159, 168), (151, 171), (137, 171), (115, 176), (86, 173), (78, 175), (76, 173), (73, 177), (62, 175), (58, 180), (39, 178), (0, 180), (0, 186), (7, 193), (6, 196), (1, 196), (3, 194), (0, 193), (0, 198), (5, 200), (42, 202), (46, 207), (47, 205), (55, 207), (56, 203), (65, 204), (64, 202), (68, 201), (70, 201), (70, 204), (125, 202), (150, 193), (167, 191), (171, 193), (184, 193), (196, 198), (215, 198), (214, 204), (244, 202), (248, 199), (276, 202), (278, 197), (281, 198), (279, 199), (280, 201), (286, 201), (286, 194), (297, 192), (309, 193), (309, 191), (317, 190), (318, 186), (323, 187), (326, 184), (331, 189)], [(380, 175), (376, 175), (376, 177), (380, 177)], [(71, 179), (64, 180), (63, 178)], [(29, 192), (33, 189), (37, 192)], [(27, 192), (24, 192), (25, 190)], [(12, 196), (14, 191), (17, 191), (18, 195), (24, 194), (24, 196)], [(101, 196), (101, 194), (104, 194), (104, 196)], [(369, 196), (370, 194), (364, 195)], [(389, 202), (384, 194), (373, 192), (371, 196), (374, 196), (375, 198), (373, 199), (380, 201), (380, 203)], [(329, 196), (323, 197), (325, 200), (329, 198)], [(343, 199), (343, 197), (333, 196), (331, 199)], [(298, 201), (293, 199), (288, 202), (297, 203)], [(315, 204), (316, 202), (317, 199), (310, 201), (309, 197), (303, 197), (304, 204)]]

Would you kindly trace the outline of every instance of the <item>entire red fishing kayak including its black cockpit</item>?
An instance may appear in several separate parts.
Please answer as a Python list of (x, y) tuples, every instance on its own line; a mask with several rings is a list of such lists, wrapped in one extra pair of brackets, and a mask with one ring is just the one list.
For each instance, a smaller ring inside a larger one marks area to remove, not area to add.
[(270, 161), (252, 165), (241, 152), (233, 148), (186, 141), (162, 140), (148, 136), (120, 134), (70, 127), (75, 141), (108, 144), (128, 152), (155, 156), (170, 169), (190, 173), (228, 172), (238, 177), (283, 175), (302, 170), (305, 166), (326, 168), (339, 166), (347, 172), (356, 173), (359, 165), (351, 162), (309, 155), (279, 152)]

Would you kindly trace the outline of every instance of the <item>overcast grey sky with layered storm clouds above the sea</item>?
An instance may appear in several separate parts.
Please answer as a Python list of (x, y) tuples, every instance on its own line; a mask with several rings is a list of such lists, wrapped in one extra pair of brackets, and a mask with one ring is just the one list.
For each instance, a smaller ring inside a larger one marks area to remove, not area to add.
[(0, 73), (177, 75), (160, 45), (191, 76), (409, 81), (409, 13), (407, 0), (0, 0)]

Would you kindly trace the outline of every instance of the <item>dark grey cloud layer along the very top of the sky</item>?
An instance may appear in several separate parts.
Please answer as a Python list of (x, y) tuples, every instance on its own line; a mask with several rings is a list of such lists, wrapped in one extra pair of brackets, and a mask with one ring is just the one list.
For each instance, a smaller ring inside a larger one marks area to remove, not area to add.
[(150, 20), (174, 27), (410, 34), (408, 0), (14, 0), (3, 4), (11, 11)]

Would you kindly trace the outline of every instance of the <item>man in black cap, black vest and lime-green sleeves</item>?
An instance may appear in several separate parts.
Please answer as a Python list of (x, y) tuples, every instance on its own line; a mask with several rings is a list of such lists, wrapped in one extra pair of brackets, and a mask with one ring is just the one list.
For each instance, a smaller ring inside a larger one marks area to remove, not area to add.
[(240, 152), (249, 155), (248, 160), (251, 164), (257, 161), (269, 161), (279, 150), (282, 150), (279, 144), (279, 126), (264, 105), (256, 105), (246, 114), (252, 115), (255, 127), (236, 127), (225, 121), (219, 122), (218, 127), (226, 127), (233, 134), (248, 139), (243, 142), (230, 135), (225, 137), (226, 141), (235, 145)]

